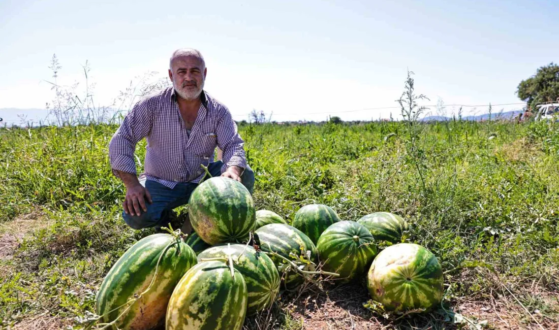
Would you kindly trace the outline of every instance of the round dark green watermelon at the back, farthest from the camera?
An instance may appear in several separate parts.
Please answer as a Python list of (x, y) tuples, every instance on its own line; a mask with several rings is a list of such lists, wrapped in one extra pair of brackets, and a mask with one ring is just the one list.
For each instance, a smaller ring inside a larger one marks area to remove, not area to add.
[(295, 213), (293, 227), (309, 236), (313, 243), (318, 242), (320, 234), (334, 222), (340, 221), (338, 214), (328, 205), (310, 204)]

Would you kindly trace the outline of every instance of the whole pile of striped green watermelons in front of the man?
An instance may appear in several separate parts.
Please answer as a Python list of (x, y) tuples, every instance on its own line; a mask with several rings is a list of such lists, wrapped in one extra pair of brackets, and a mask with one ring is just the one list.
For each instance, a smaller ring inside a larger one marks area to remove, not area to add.
[(334, 284), (367, 276), (371, 297), (385, 310), (429, 310), (442, 299), (437, 258), (401, 243), (408, 224), (395, 214), (341, 221), (327, 205), (312, 204), (290, 226), (276, 213), (256, 212), (248, 190), (223, 177), (198, 185), (188, 211), (195, 232), (186, 241), (178, 231), (151, 235), (113, 265), (97, 293), (103, 324), (241, 329), (246, 315), (271, 306), (280, 287), (297, 289), (317, 273)]

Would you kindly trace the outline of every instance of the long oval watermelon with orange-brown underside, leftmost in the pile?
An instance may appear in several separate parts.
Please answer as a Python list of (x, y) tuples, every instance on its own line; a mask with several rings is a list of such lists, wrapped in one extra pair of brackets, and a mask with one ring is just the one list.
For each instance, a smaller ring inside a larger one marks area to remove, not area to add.
[[(96, 313), (103, 315), (147, 289), (159, 256), (169, 243), (171, 245), (159, 262), (153, 286), (115, 324), (120, 329), (151, 329), (162, 325), (173, 289), (184, 273), (197, 262), (192, 248), (182, 238), (168, 234), (142, 238), (117, 260), (97, 293)], [(111, 322), (123, 311), (122, 308), (113, 310), (101, 322)]]

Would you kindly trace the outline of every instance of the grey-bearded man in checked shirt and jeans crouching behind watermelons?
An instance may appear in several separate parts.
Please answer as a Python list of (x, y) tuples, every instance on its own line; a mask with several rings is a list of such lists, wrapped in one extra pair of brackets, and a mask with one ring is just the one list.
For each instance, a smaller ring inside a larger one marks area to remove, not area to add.
[[(200, 183), (205, 173), (200, 165), (208, 166), (212, 176), (240, 181), (252, 193), (254, 173), (244, 141), (228, 108), (203, 90), (206, 73), (200, 51), (174, 51), (169, 61), (173, 87), (138, 102), (111, 139), (111, 168), (126, 186), (122, 217), (134, 229), (168, 226), (172, 209), (188, 203)], [(138, 180), (134, 150), (144, 137), (145, 177)], [(222, 161), (214, 162), (216, 146)], [(186, 221), (183, 232), (191, 230)]]

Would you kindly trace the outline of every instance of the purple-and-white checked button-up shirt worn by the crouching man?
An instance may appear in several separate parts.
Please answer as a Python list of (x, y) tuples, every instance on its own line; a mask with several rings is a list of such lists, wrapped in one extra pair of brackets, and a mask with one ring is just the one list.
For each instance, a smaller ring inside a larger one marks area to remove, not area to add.
[(237, 132), (229, 109), (201, 94), (202, 105), (192, 132), (187, 133), (173, 87), (136, 103), (109, 144), (109, 160), (116, 170), (136, 174), (134, 150), (146, 138), (144, 168), (149, 180), (173, 189), (178, 182), (198, 183), (203, 169), (214, 161), (215, 147), (223, 150), (221, 173), (229, 166), (246, 168), (244, 141)]

